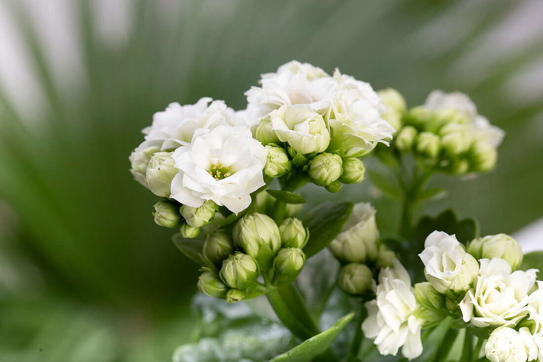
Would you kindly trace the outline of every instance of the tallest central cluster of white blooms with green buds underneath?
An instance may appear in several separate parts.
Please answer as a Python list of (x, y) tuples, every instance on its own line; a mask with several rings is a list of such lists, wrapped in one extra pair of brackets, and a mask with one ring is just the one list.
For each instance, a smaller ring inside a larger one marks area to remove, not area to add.
[(383, 119), (387, 108), (368, 83), (336, 69), (333, 76), (311, 64), (291, 61), (262, 75), (241, 114), (268, 149), (264, 173), (280, 177), (297, 167), (313, 183), (336, 192), (359, 183), (359, 159), (377, 142), (392, 139)]

